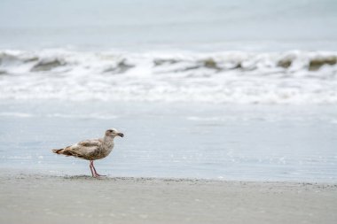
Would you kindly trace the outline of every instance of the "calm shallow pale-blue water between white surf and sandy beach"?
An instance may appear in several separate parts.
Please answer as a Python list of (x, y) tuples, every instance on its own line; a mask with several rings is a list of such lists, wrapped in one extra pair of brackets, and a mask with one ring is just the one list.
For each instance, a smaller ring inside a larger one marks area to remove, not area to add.
[(108, 127), (125, 134), (96, 161), (112, 176), (337, 181), (334, 105), (2, 101), (0, 167), (90, 174), (51, 153)]

